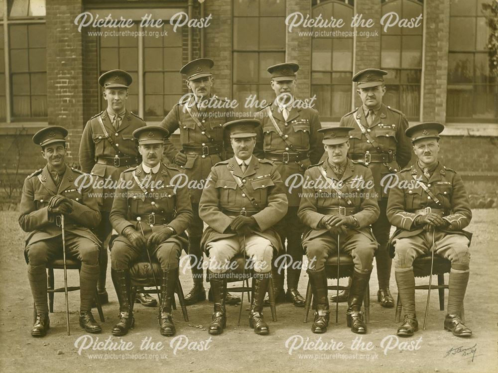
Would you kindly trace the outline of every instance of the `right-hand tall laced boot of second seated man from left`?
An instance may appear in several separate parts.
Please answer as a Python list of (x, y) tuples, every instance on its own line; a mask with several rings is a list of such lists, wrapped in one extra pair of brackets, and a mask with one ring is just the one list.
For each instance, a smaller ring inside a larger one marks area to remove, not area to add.
[(176, 282), (178, 280), (178, 267), (173, 269), (163, 269), (161, 284), (161, 305), (159, 306), (160, 332), (163, 336), (171, 337), (175, 335), (176, 329), (171, 317), (171, 304), (175, 296)]

